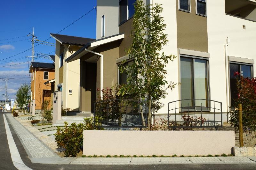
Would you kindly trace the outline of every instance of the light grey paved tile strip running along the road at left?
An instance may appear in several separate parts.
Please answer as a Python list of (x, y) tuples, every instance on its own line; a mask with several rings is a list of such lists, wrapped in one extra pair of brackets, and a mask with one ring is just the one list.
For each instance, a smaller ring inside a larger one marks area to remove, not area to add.
[(22, 143), (27, 148), (32, 158), (44, 158), (56, 156), (46, 148), (36, 137), (34, 137), (24, 126), (15, 120), (10, 114), (6, 114), (12, 124), (13, 129), (20, 137)]

